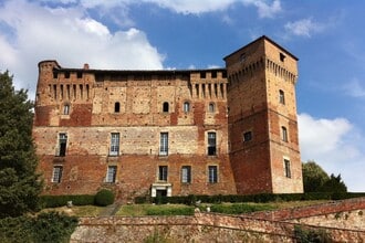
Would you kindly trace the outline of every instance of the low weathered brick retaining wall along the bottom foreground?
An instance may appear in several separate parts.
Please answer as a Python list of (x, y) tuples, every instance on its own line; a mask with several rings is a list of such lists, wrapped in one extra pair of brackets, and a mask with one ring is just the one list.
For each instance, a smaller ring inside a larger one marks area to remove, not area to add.
[[(195, 216), (83, 218), (71, 242), (143, 242), (158, 234), (174, 242), (293, 242), (293, 223), (198, 213)], [(362, 242), (364, 231), (330, 228), (335, 242)]]

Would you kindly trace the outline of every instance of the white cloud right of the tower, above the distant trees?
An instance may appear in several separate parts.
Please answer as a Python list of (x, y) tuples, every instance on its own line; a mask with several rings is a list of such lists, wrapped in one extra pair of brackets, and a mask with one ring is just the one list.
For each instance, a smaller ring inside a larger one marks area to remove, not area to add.
[(299, 115), (303, 161), (316, 161), (327, 173), (342, 175), (350, 191), (365, 191), (365, 137), (345, 118)]

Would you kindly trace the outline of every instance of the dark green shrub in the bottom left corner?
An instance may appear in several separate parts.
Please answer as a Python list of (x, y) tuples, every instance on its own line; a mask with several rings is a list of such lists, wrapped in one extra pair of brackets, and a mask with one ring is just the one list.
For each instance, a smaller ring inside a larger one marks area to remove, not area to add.
[(36, 218), (18, 216), (0, 220), (1, 242), (54, 242), (70, 241), (77, 226), (77, 218), (49, 212)]

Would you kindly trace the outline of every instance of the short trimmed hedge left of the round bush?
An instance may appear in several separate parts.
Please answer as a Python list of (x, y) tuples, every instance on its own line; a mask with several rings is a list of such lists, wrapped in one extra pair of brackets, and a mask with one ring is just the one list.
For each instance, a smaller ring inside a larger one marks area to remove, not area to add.
[(66, 194), (66, 196), (41, 196), (42, 208), (58, 208), (66, 205), (72, 201), (74, 205), (93, 205), (95, 196), (93, 194)]

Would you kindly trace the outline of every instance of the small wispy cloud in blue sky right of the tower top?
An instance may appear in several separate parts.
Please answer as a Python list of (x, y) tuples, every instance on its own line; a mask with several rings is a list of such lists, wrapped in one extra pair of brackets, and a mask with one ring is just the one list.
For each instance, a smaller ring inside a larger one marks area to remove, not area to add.
[(324, 25), (314, 22), (311, 18), (288, 22), (284, 29), (292, 35), (310, 38), (313, 33), (321, 32)]

